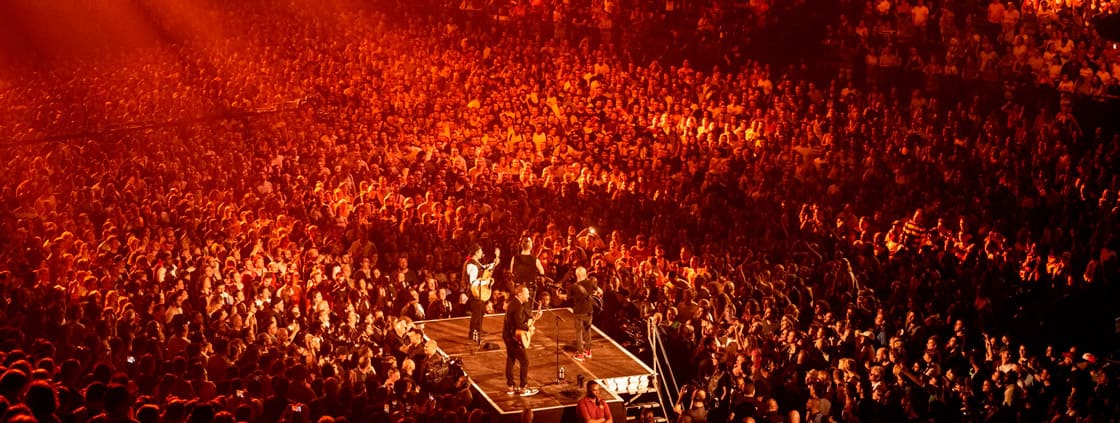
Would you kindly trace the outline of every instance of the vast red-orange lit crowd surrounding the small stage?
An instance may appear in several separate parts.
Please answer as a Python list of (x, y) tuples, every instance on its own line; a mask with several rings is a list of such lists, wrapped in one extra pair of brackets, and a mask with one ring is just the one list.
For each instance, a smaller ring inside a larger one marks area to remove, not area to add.
[[(887, 6), (865, 25), (914, 15)], [(480, 421), (417, 322), (467, 312), (468, 245), (523, 235), (553, 288), (590, 270), (635, 350), (651, 319), (678, 341), (678, 421), (1120, 414), (1111, 351), (1016, 317), (1120, 278), (1120, 137), (1067, 105), (311, 10), (225, 6), (236, 37), (0, 87), (4, 421)]]

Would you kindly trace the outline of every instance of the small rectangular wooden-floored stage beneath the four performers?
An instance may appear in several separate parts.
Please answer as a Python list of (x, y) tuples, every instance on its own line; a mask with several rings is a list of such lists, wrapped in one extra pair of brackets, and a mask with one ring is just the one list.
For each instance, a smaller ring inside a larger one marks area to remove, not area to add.
[[(470, 318), (423, 321), (423, 332), (435, 339), (439, 349), (449, 357), (463, 360), (464, 370), (470, 376), (476, 397), (493, 407), (501, 421), (516, 421), (525, 408), (532, 408), (535, 422), (578, 422), (576, 404), (584, 395), (577, 386), (579, 376), (599, 380), (609, 396), (612, 414), (616, 422), (625, 421), (623, 397), (652, 389), (653, 369), (622, 348), (598, 328), (591, 328), (591, 359), (577, 361), (571, 358), (570, 344), (576, 339), (575, 318), (569, 309), (544, 310), (536, 320), (536, 332), (529, 348), (529, 385), (541, 392), (522, 397), (506, 394), (505, 344), (502, 342), (502, 321), (505, 314), (489, 314), (483, 319), (480, 342), (468, 337)], [(558, 320), (559, 318), (559, 320)], [(557, 339), (560, 341), (559, 366), (564, 368), (564, 380), (557, 383)], [(514, 369), (516, 377), (516, 369)]]

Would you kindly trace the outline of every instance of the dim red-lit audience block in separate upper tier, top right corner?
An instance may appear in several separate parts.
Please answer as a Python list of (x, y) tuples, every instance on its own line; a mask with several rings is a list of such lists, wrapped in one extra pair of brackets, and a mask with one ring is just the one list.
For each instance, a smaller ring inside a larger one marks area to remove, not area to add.
[(1117, 44), (1093, 18), (1114, 1), (842, 1), (827, 43), (875, 84), (983, 81), (1120, 94)]

